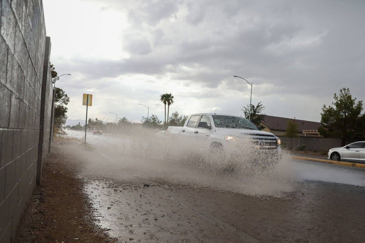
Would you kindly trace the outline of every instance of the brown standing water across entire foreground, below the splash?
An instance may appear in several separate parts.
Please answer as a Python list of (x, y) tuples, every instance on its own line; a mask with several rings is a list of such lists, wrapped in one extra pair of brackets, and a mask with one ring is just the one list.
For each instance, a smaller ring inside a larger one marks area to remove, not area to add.
[(362, 242), (362, 188), (322, 182), (300, 187), (281, 199), (110, 180), (89, 181), (84, 190), (101, 228), (121, 242), (245, 242), (238, 231), (261, 242)]

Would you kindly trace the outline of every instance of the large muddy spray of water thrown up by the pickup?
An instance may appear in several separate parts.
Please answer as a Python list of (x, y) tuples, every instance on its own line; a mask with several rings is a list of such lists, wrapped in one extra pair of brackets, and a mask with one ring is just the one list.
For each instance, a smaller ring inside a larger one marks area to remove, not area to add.
[[(85, 176), (97, 179), (207, 187), (255, 196), (281, 197), (293, 189), (289, 156), (276, 161), (270, 153), (247, 149), (245, 141), (235, 153), (211, 153), (199, 140), (156, 133), (139, 128), (88, 134), (91, 149), (85, 150), (82, 144), (65, 149), (84, 161)], [(68, 136), (82, 141), (83, 135), (70, 130)]]

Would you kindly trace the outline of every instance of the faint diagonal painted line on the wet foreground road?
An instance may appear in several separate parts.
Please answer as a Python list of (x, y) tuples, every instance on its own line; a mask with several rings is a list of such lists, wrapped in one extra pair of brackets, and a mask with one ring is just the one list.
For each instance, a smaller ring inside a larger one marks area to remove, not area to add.
[(221, 230), (224, 231), (228, 231), (231, 234), (237, 236), (239, 239), (239, 242), (247, 242), (247, 243), (260, 243), (259, 240), (247, 235), (245, 232), (231, 226), (230, 224), (223, 222), (222, 220), (218, 219), (217, 217), (211, 215), (210, 213), (202, 213), (199, 211), (199, 207), (196, 207), (190, 203), (188, 203), (187, 201), (185, 201), (184, 199), (181, 199), (179, 196), (172, 196), (171, 192), (167, 191), (166, 189), (162, 188), (162, 187), (158, 187), (158, 186), (152, 186), (155, 190), (157, 190), (158, 192), (161, 192), (162, 194), (164, 194), (165, 196), (169, 197), (170, 199), (176, 201), (177, 203), (179, 203), (180, 205), (183, 205), (185, 208), (190, 209), (191, 211), (199, 214), (200, 216), (202, 216), (204, 219), (214, 223), (214, 225), (218, 228), (220, 228)]

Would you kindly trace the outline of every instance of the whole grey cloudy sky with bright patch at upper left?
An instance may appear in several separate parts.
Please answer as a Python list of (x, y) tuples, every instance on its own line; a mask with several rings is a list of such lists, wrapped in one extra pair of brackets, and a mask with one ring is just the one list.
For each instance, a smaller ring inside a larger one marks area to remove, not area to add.
[(264, 113), (320, 121), (348, 87), (365, 101), (365, 1), (45, 0), (56, 87), (68, 117), (132, 121), (155, 114)]

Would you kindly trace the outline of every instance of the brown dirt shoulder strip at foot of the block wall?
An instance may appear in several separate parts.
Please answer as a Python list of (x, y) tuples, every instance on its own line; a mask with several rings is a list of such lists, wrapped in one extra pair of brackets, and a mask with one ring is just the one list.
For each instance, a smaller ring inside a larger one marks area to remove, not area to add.
[(77, 177), (80, 161), (65, 156), (57, 146), (60, 142), (55, 138), (42, 183), (33, 192), (15, 242), (116, 242), (93, 219), (93, 208), (82, 191), (85, 181)]

